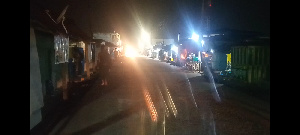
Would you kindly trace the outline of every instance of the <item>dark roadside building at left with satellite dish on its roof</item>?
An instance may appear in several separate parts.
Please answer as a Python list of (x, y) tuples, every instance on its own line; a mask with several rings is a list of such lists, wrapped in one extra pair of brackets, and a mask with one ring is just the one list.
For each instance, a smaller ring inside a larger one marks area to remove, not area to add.
[[(88, 36), (71, 20), (56, 18), (38, 3), (30, 3), (30, 129), (52, 113), (57, 103), (69, 98), (70, 45), (89, 44)], [(83, 52), (83, 59), (85, 56)], [(80, 74), (86, 74), (86, 68)]]

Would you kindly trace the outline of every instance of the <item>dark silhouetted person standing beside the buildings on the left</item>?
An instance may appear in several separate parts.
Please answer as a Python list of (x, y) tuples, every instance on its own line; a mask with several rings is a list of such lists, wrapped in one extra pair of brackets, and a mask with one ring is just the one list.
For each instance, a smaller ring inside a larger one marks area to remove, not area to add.
[(108, 85), (108, 77), (111, 68), (111, 58), (105, 45), (101, 46), (101, 51), (98, 54), (97, 66), (99, 69), (100, 77), (102, 79), (101, 85)]

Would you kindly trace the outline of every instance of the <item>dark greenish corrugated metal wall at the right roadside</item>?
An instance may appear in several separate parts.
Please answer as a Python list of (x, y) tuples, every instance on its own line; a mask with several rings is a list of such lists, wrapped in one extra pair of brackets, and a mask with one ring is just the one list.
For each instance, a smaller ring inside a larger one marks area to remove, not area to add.
[(270, 79), (269, 46), (232, 47), (232, 74), (248, 83), (260, 83)]

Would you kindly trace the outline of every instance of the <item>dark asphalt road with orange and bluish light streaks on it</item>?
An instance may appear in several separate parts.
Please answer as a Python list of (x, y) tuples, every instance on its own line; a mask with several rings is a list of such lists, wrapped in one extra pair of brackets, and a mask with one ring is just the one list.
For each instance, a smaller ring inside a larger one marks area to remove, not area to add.
[(50, 134), (268, 135), (269, 103), (147, 57), (114, 63)]

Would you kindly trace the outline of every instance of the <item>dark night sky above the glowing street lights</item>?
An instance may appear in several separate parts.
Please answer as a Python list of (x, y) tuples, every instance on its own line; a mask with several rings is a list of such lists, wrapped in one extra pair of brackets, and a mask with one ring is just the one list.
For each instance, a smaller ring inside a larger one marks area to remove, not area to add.
[[(202, 0), (38, 0), (50, 13), (66, 5), (67, 19), (87, 34), (113, 32), (134, 44), (144, 28), (153, 36), (177, 38), (200, 33)], [(270, 34), (269, 0), (211, 0), (211, 29), (237, 29)]]

